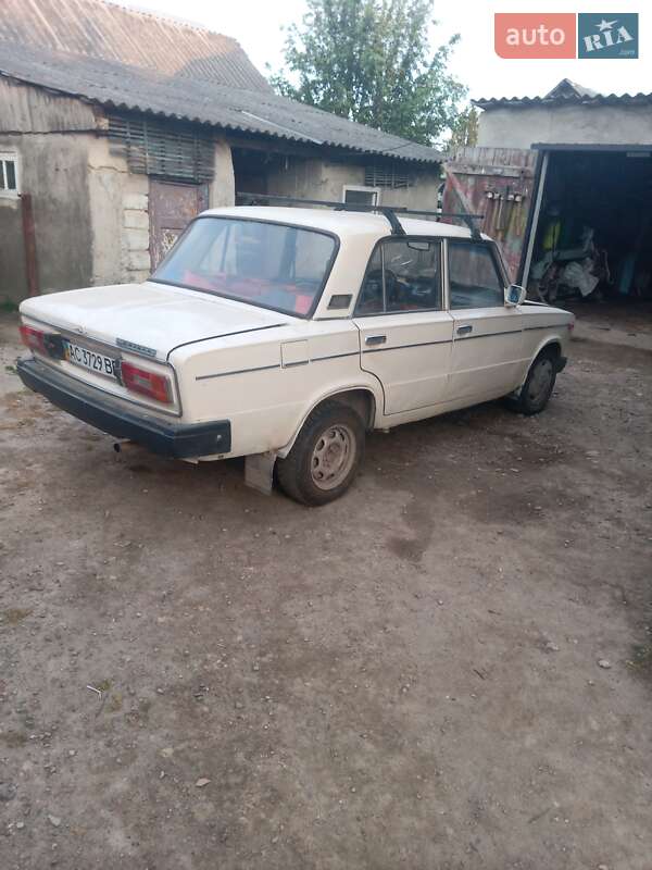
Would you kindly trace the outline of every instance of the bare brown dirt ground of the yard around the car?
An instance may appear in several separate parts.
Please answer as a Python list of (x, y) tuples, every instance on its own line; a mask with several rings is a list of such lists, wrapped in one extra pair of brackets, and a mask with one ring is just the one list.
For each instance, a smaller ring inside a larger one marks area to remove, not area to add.
[(652, 868), (652, 353), (309, 510), (116, 456), (0, 332), (2, 870)]

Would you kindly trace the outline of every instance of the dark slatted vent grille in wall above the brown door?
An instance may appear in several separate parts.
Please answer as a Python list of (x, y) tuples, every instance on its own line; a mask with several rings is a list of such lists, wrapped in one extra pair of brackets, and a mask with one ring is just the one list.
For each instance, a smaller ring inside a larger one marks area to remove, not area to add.
[(213, 142), (192, 127), (112, 116), (109, 137), (131, 172), (195, 184), (213, 179)]

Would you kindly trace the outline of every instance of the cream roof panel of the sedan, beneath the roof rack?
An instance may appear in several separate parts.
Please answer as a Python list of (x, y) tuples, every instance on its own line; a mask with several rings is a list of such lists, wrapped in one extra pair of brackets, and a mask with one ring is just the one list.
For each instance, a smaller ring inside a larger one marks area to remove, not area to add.
[[(233, 206), (229, 208), (209, 209), (200, 216), (247, 217), (256, 221), (305, 226), (311, 229), (323, 229), (341, 237), (376, 236), (383, 238), (391, 235), (387, 217), (374, 212), (335, 211), (333, 209), (303, 209), (276, 206)], [(403, 217), (397, 212), (409, 236), (440, 236), (442, 238), (471, 238), (471, 231), (465, 226), (444, 224), (436, 221), (419, 221)], [(484, 236), (487, 238), (487, 236)]]

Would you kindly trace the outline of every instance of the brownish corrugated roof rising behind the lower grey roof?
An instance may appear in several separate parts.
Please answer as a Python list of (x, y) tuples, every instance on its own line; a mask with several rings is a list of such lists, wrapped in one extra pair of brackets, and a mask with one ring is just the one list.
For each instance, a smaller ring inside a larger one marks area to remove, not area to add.
[(161, 73), (271, 91), (228, 36), (100, 0), (2, 0), (0, 39)]

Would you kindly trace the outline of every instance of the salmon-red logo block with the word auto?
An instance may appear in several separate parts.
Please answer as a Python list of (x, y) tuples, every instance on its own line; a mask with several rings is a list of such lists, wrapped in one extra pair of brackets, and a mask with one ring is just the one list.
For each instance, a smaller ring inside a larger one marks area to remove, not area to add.
[(577, 26), (570, 12), (497, 12), (496, 53), (506, 59), (575, 58)]

